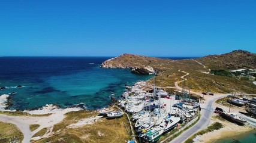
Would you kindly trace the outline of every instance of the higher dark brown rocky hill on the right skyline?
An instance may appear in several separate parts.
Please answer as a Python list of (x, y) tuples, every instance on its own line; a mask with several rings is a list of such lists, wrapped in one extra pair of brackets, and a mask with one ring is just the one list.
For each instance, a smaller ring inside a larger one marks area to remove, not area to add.
[(256, 68), (256, 54), (240, 49), (227, 54), (208, 55), (196, 60), (209, 67), (209, 69), (215, 70)]

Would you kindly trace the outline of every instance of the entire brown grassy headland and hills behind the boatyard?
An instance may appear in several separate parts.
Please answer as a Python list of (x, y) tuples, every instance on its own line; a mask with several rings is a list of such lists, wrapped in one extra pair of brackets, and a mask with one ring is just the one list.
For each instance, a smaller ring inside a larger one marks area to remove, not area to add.
[[(233, 59), (230, 59), (231, 57), (233, 57)], [(161, 86), (166, 89), (168, 87), (173, 87), (174, 82), (182, 80), (180, 77), (185, 75), (185, 73), (182, 73), (182, 71), (185, 71), (189, 73), (189, 76), (186, 76), (186, 79), (188, 80), (185, 82), (185, 89), (191, 89), (192, 91), (198, 92), (244, 92), (248, 94), (255, 94), (256, 86), (252, 81), (207, 74), (209, 68), (216, 70), (238, 69), (241, 67), (255, 68), (255, 60), (253, 60), (253, 58), (255, 58), (255, 54), (241, 50), (223, 55), (209, 55), (203, 58), (190, 60), (170, 60), (134, 54), (123, 54), (119, 57), (105, 61), (101, 64), (101, 67), (143, 70), (145, 69), (144, 67), (152, 67), (153, 71), (156, 73), (156, 86)], [(227, 64), (225, 61), (227, 61)], [(218, 64), (218, 62), (220, 64)], [(142, 73), (145, 74), (150, 72)], [(152, 83), (152, 80), (149, 80), (148, 82)]]

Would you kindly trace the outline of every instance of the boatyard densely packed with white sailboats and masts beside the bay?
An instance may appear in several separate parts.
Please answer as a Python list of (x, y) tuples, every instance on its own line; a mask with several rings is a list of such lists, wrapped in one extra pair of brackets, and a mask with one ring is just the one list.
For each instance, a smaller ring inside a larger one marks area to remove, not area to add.
[(138, 142), (156, 142), (162, 135), (170, 133), (175, 128), (181, 128), (198, 117), (199, 100), (189, 99), (190, 96), (186, 92), (180, 91), (180, 95), (171, 95), (156, 88), (154, 84), (147, 84), (138, 81), (133, 86), (126, 85), (121, 98), (112, 93), (110, 98), (116, 100), (122, 111), (105, 109), (99, 113), (105, 114), (108, 118), (113, 113), (127, 113), (135, 130), (134, 141)]

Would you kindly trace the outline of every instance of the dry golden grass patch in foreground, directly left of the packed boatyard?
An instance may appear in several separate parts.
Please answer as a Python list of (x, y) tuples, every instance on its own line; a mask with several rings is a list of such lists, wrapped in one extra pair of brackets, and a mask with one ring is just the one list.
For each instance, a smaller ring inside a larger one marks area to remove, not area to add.
[(76, 129), (66, 128), (80, 119), (97, 114), (95, 111), (84, 110), (67, 113), (64, 121), (54, 126), (55, 134), (53, 136), (37, 142), (127, 142), (128, 139), (131, 139), (131, 135), (128, 135), (124, 126), (125, 123), (128, 131), (131, 132), (126, 116), (112, 120), (101, 118), (101, 122), (93, 125), (85, 125)]

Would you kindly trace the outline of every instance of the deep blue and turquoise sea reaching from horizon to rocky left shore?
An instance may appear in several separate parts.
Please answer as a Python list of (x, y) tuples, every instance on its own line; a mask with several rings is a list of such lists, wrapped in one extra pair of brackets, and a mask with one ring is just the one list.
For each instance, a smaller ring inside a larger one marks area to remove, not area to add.
[[(85, 103), (89, 109), (107, 107), (109, 95), (121, 95), (124, 85), (152, 76), (132, 74), (129, 69), (102, 69), (111, 57), (0, 57), (0, 86), (11, 95), (11, 109), (24, 110), (58, 104)], [(180, 59), (180, 58), (179, 58)], [(15, 88), (22, 85), (22, 88)]]

